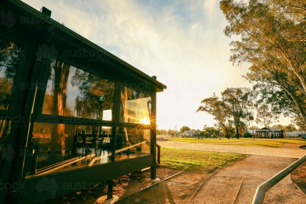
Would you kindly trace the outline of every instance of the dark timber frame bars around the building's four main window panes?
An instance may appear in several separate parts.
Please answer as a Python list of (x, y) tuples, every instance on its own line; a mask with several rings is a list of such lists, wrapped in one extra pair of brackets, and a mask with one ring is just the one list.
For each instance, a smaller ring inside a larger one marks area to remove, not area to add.
[[(57, 123), (57, 124), (72, 124), (72, 125), (95, 125), (95, 126), (107, 126), (107, 127), (112, 127), (112, 131), (113, 131), (113, 135), (112, 135), (112, 139), (113, 139), (113, 149), (112, 149), (112, 157), (111, 157), (111, 162), (108, 162), (108, 163), (104, 163), (104, 164), (98, 164), (98, 165), (93, 165), (93, 166), (90, 166), (88, 168), (79, 168), (79, 169), (73, 169), (73, 170), (67, 170), (67, 171), (63, 171), (63, 172), (54, 172), (54, 173), (49, 173), (49, 174), (46, 174), (46, 175), (67, 175), (69, 174), (69, 172), (83, 172), (83, 171), (91, 171), (91, 169), (96, 169), (96, 168), (105, 168), (104, 166), (105, 165), (112, 165), (113, 163), (116, 163), (116, 164), (120, 164), (120, 163), (125, 163), (127, 162), (127, 160), (129, 160), (128, 158), (127, 159), (122, 159), (122, 160), (116, 160), (115, 161), (115, 151), (116, 151), (116, 135), (117, 135), (117, 128), (120, 128), (120, 127), (124, 127), (124, 128), (143, 128), (143, 129), (150, 129), (151, 131), (151, 152), (150, 154), (147, 154), (147, 155), (142, 155), (142, 156), (139, 156), (137, 158), (154, 158), (155, 156), (155, 152), (154, 151), (154, 148), (156, 148), (156, 131), (154, 129), (154, 127), (156, 127), (156, 124), (155, 124), (155, 120), (154, 120), (154, 116), (155, 116), (155, 113), (156, 113), (156, 92), (151, 92), (150, 94), (147, 94), (148, 96), (150, 96), (152, 98), (152, 108), (151, 108), (151, 114), (150, 114), (150, 121), (151, 124), (150, 125), (145, 125), (145, 124), (136, 124), (136, 123), (125, 123), (125, 122), (120, 122), (119, 121), (119, 118), (120, 118), (120, 102), (121, 102), (121, 89), (119, 88), (119, 83), (122, 83), (121, 81), (119, 80), (116, 80), (114, 79), (113, 77), (110, 77), (108, 75), (104, 75), (102, 73), (98, 73), (98, 72), (95, 72), (94, 70), (90, 69), (90, 68), (87, 68), (87, 67), (84, 67), (82, 65), (79, 65), (78, 63), (74, 63), (73, 61), (71, 60), (67, 60), (66, 58), (64, 57), (60, 57), (58, 56), (56, 58), (56, 60), (60, 60), (64, 63), (68, 63), (69, 65), (72, 65), (78, 69), (81, 69), (81, 70), (84, 70), (86, 72), (89, 72), (91, 74), (94, 74), (96, 76), (100, 76), (104, 79), (107, 79), (107, 80), (110, 80), (112, 82), (115, 83), (115, 97), (114, 97), (114, 112), (113, 112), (113, 121), (99, 121), (99, 120), (96, 120), (96, 119), (88, 119), (88, 118), (79, 118), (79, 117), (69, 117), (69, 116), (56, 116), (58, 118), (57, 121), (54, 121), (54, 123)], [(48, 60), (48, 59), (43, 59), (43, 63), (41, 65), (41, 69), (42, 69), (42, 74), (40, 76), (40, 82), (42, 84), (46, 84), (47, 85), (47, 82), (48, 82), (48, 78), (49, 78), (49, 69), (50, 69), (50, 65), (51, 65), (51, 61)], [(144, 93), (143, 91), (141, 90), (138, 90), (137, 88), (136, 89), (132, 89), (132, 90), (135, 90), (135, 91), (140, 91), (141, 93)], [(44, 102), (44, 97), (45, 97), (45, 93), (46, 93), (46, 88), (44, 90), (37, 90), (37, 93), (36, 93), (36, 99), (35, 99), (35, 102), (34, 102), (34, 110), (33, 110), (33, 120), (31, 120), (31, 126), (30, 126), (30, 129), (29, 129), (29, 136), (28, 136), (28, 141), (27, 143), (29, 144), (29, 142), (31, 141), (32, 139), (32, 132), (33, 132), (33, 128), (34, 128), (34, 123), (35, 122), (44, 122), (43, 119), (39, 118), (39, 117), (47, 117), (47, 116), (50, 116), (49, 114), (43, 114), (42, 113), (42, 109), (43, 109), (43, 102)], [(55, 115), (52, 115), (52, 116), (55, 116)], [(67, 120), (64, 120), (64, 117), (65, 119), (69, 119), (69, 121)], [(75, 122), (71, 122), (71, 121), (76, 121)], [(155, 135), (154, 135), (155, 134)], [(29, 146), (28, 146), (29, 147)], [(25, 158), (25, 161), (27, 161), (29, 157), (26, 156)], [(25, 164), (25, 162), (24, 162)], [(153, 164), (154, 165), (154, 164)], [(25, 168), (25, 166), (22, 167), (23, 169)], [(43, 175), (43, 176), (46, 176), (46, 175)], [(32, 179), (35, 179), (37, 177), (41, 177), (41, 176), (34, 176), (34, 177), (29, 177), (29, 178), (25, 178), (25, 174), (23, 174), (23, 179), (26, 179), (26, 180), (32, 180)]]

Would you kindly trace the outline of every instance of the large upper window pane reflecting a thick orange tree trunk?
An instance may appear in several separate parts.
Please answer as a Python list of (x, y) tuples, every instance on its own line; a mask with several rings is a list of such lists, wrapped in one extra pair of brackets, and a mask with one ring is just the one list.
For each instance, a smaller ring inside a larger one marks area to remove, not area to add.
[(115, 83), (53, 60), (43, 113), (112, 121)]

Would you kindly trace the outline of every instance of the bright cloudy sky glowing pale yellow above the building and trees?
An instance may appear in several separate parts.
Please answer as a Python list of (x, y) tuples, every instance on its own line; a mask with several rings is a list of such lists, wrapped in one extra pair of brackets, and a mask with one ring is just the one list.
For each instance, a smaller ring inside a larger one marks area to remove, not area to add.
[[(167, 89), (157, 93), (159, 129), (203, 129), (217, 122), (196, 110), (227, 87), (250, 87), (250, 64), (233, 66), (227, 22), (219, 1), (23, 0), (52, 11), (51, 18), (115, 54)], [(256, 119), (256, 113), (254, 113)], [(290, 123), (280, 117), (280, 124)], [(255, 122), (253, 125), (257, 125)]]

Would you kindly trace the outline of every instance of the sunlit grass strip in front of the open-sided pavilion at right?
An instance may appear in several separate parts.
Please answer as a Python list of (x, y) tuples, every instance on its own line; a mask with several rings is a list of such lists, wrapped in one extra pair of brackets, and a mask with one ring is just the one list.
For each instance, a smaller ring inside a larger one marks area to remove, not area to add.
[(302, 139), (279, 139), (279, 140), (266, 140), (252, 143), (238, 143), (238, 144), (222, 144), (222, 145), (235, 145), (235, 146), (248, 146), (248, 147), (274, 147), (279, 148), (285, 143), (292, 144), (306, 144), (305, 140)]

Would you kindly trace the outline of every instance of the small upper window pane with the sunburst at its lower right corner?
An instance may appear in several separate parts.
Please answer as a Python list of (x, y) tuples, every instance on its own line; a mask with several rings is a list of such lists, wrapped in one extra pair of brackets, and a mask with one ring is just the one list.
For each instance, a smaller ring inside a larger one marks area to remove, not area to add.
[(150, 124), (151, 96), (125, 87), (121, 90), (120, 122)]

